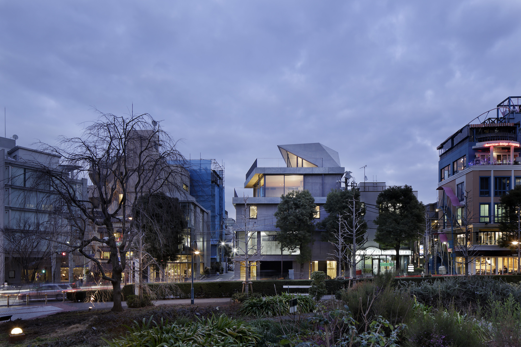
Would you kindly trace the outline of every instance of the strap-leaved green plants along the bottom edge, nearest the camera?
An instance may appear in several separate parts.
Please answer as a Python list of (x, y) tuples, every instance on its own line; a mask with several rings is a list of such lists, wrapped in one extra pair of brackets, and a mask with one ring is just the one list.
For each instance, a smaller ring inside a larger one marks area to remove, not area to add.
[[(152, 325), (153, 323), (153, 325)], [(221, 315), (199, 319), (184, 325), (169, 324), (161, 319), (152, 322), (152, 317), (143, 323), (134, 321), (129, 333), (112, 342), (105, 340), (107, 347), (158, 347), (158, 346), (243, 346), (254, 347), (261, 340), (255, 328), (242, 320)]]

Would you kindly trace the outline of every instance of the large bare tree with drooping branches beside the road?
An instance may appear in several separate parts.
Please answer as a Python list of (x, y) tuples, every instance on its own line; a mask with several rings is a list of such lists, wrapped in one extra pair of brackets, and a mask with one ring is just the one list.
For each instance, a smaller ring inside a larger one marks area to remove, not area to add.
[[(38, 179), (45, 180), (57, 196), (54, 206), (59, 206), (61, 218), (71, 224), (58, 239), (67, 241), (60, 244), (69, 252), (80, 252), (101, 279), (113, 285), (112, 311), (121, 312), (122, 273), (133, 241), (143, 231), (138, 223), (145, 219), (134, 220), (132, 207), (138, 200), (151, 205), (157, 193), (182, 194), (181, 177), (187, 173), (176, 142), (150, 115), (98, 114), (79, 137), (41, 144), (42, 151), (59, 156), (59, 165), (33, 165), (38, 167)], [(88, 198), (81, 193), (83, 187), (73, 183), (78, 179), (90, 181)], [(98, 256), (100, 247), (109, 250), (111, 269)]]

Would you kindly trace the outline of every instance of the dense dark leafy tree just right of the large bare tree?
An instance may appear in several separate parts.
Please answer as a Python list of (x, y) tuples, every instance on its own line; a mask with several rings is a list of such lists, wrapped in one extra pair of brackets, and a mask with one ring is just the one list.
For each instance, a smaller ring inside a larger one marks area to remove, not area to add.
[(147, 255), (164, 274), (167, 263), (177, 260), (187, 228), (179, 199), (163, 192), (140, 196), (133, 206), (133, 219), (141, 228)]

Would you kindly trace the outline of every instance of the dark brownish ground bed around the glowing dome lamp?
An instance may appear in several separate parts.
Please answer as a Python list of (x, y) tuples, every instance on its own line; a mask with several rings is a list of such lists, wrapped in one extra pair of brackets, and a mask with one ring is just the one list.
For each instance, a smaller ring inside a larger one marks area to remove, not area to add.
[[(111, 340), (124, 335), (123, 325), (131, 326), (134, 320), (143, 318), (193, 320), (226, 313), (228, 317), (238, 317), (238, 304), (222, 306), (161, 305), (146, 308), (127, 309), (122, 313), (105, 310), (73, 311), (56, 313), (43, 318), (8, 321), (0, 324), (0, 346), (31, 347), (94, 347), (106, 345), (101, 339)], [(197, 315), (199, 314), (199, 315)], [(19, 327), (26, 333), (26, 341), (18, 344), (7, 342), (11, 329)]]

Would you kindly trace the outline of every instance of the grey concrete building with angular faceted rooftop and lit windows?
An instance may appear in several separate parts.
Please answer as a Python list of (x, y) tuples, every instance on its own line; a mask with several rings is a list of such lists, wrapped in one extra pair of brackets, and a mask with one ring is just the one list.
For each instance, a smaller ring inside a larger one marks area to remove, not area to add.
[[(332, 189), (340, 188), (340, 179), (345, 169), (340, 166), (338, 152), (320, 143), (279, 145), (281, 158), (257, 158), (246, 173), (244, 188), (235, 188), (232, 198), (235, 206), (237, 228), (251, 228), (256, 233), (256, 244), (260, 249), (258, 265), (251, 266), (252, 279), (287, 277), (293, 269), (294, 278), (309, 278), (314, 270), (337, 275), (337, 262), (331, 259), (331, 244), (320, 241), (320, 231), (313, 234), (312, 261), (300, 264), (294, 261), (295, 254), (281, 252), (276, 241), (274, 213), (280, 196), (290, 191), (311, 192), (317, 204), (316, 221), (324, 219), (322, 205)], [(246, 205), (244, 201), (246, 200)], [(242, 232), (244, 234), (244, 232)], [(238, 237), (241, 239), (241, 236)], [(244, 243), (244, 235), (242, 235)], [(255, 259), (252, 259), (255, 260)], [(235, 265), (235, 278), (244, 279), (244, 266)]]

